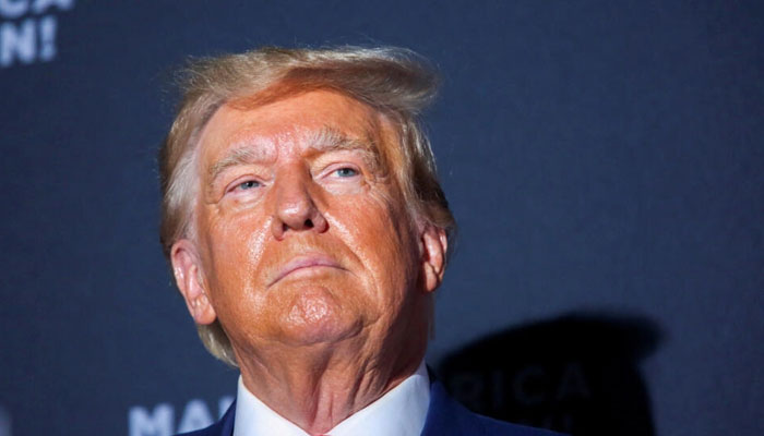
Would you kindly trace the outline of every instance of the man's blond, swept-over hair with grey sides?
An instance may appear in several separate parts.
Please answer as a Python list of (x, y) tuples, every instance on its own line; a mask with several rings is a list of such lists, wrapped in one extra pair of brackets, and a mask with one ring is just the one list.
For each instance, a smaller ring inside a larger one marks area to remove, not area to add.
[[(179, 74), (182, 99), (159, 149), (162, 223), (159, 240), (169, 259), (172, 244), (193, 239), (199, 191), (199, 136), (226, 104), (266, 105), (314, 89), (331, 89), (358, 99), (383, 114), (397, 142), (379, 144), (383, 170), (392, 174), (414, 220), (445, 230), (455, 221), (438, 182), (434, 157), (419, 114), (432, 101), (437, 76), (427, 61), (401, 48), (339, 47), (284, 49), (266, 47), (240, 55), (191, 60)], [(451, 244), (450, 244), (451, 245)], [(219, 322), (199, 325), (207, 350), (236, 366)]]

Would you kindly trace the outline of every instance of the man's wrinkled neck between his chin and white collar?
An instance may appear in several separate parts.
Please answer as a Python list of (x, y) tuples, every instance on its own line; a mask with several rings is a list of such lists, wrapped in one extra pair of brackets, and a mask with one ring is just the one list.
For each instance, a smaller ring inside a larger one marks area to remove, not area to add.
[(414, 374), (423, 359), (425, 347), (391, 351), (397, 358), (392, 365), (390, 353), (347, 351), (336, 344), (265, 352), (261, 349), (256, 355), (238, 361), (250, 392), (308, 434), (318, 435)]

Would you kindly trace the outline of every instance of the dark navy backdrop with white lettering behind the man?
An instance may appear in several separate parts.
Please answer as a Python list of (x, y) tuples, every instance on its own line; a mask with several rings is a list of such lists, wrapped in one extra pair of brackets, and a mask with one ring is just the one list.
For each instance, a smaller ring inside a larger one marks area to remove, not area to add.
[[(164, 436), (237, 373), (157, 243), (187, 56), (395, 45), (461, 226), (429, 361), (574, 435), (764, 434), (755, 1), (0, 0), (0, 436)], [(522, 356), (522, 358), (521, 358)]]

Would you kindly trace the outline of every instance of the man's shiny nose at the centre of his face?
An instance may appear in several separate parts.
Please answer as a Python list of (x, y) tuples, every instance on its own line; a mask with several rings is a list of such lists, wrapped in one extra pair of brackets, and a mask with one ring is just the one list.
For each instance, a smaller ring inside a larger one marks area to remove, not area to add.
[[(280, 180), (278, 180), (280, 179)], [(284, 239), (289, 231), (326, 231), (329, 223), (311, 195), (310, 174), (290, 171), (276, 181), (273, 235)]]

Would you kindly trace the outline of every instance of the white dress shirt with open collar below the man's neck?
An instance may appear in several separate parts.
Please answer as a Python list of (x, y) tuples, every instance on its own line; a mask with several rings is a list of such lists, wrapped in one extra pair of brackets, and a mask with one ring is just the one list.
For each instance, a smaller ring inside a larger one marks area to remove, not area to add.
[[(380, 399), (359, 410), (334, 428), (330, 436), (419, 436), (430, 405), (430, 377), (425, 362), (417, 372)], [(306, 436), (250, 392), (239, 376), (234, 436)]]

